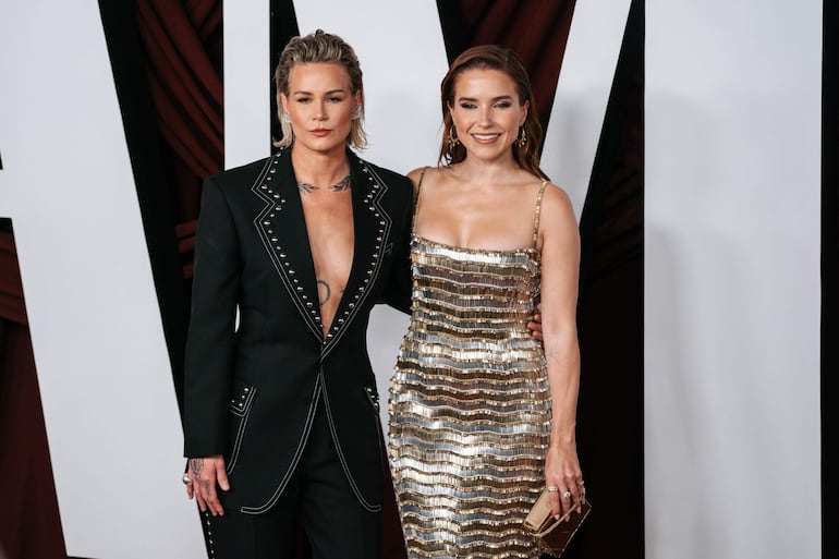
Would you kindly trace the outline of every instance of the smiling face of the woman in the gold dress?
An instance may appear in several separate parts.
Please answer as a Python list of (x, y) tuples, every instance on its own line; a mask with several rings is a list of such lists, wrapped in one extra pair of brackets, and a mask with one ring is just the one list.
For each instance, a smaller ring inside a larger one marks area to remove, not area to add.
[(495, 160), (512, 158), (527, 104), (521, 104), (515, 82), (504, 72), (466, 70), (454, 81), (449, 112), (466, 157)]

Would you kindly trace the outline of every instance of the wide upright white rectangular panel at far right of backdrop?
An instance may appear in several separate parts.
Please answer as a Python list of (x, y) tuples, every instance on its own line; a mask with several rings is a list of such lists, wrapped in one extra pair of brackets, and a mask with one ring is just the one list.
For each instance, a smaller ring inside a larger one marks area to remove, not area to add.
[(815, 559), (822, 2), (646, 5), (647, 557)]

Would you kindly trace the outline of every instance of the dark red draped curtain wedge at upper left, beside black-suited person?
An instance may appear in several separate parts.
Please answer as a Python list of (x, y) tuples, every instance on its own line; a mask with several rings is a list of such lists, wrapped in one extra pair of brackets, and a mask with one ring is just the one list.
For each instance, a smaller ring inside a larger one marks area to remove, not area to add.
[(221, 4), (220, 0), (135, 4), (184, 278), (192, 277), (202, 182), (223, 166)]

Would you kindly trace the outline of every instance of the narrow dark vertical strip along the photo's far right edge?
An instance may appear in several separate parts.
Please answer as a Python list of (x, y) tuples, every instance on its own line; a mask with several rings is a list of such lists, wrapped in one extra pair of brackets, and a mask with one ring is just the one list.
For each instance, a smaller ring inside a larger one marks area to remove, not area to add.
[(839, 557), (839, 4), (823, 7), (822, 557)]

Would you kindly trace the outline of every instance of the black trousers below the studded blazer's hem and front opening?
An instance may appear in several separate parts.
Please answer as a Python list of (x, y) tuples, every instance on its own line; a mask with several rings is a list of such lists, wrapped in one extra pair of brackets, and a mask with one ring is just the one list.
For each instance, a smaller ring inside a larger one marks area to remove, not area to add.
[(210, 559), (292, 559), (297, 521), (313, 559), (378, 559), (380, 513), (364, 509), (336, 452), (323, 402), (305, 451), (280, 499), (263, 514), (202, 514)]

